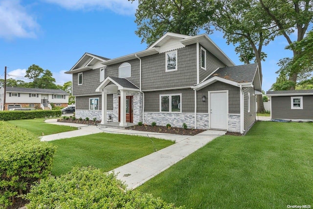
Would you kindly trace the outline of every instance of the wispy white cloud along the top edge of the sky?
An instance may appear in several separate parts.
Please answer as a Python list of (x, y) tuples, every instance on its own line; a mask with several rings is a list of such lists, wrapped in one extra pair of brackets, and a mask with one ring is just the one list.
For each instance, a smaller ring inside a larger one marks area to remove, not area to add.
[(44, 0), (58, 4), (70, 10), (94, 10), (110, 9), (117, 14), (132, 15), (138, 6), (138, 2), (128, 0)]

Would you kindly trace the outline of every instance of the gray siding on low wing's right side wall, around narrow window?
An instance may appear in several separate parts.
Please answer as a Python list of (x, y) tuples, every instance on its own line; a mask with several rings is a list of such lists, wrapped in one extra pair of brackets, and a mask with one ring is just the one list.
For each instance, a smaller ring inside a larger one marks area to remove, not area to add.
[[(248, 113), (248, 93), (250, 93), (250, 112)], [(253, 123), (255, 122), (255, 95), (254, 89), (252, 87), (250, 88), (244, 88), (244, 117), (245, 117), (245, 124), (244, 129), (248, 130)]]

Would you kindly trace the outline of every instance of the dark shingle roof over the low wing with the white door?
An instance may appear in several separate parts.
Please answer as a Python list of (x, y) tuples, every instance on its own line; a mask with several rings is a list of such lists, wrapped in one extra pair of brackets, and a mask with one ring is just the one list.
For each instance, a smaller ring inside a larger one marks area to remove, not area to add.
[(218, 76), (227, 80), (235, 81), (237, 83), (253, 82), (255, 71), (258, 64), (239, 65), (233, 67), (220, 68), (209, 76), (206, 80)]

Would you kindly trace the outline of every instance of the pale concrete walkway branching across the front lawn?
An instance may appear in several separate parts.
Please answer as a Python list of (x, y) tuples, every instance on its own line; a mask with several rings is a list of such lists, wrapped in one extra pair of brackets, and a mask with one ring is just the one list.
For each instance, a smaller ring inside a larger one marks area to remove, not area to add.
[(86, 136), (89, 134), (101, 132), (138, 135), (175, 141), (176, 143), (171, 146), (168, 146), (164, 149), (156, 151), (150, 155), (147, 155), (112, 170), (115, 174), (117, 174), (117, 179), (125, 182), (125, 184), (130, 189), (134, 189), (137, 186), (142, 185), (143, 183), (155, 177), (157, 174), (166, 170), (173, 164), (179, 162), (191, 153), (195, 152), (208, 142), (226, 133), (225, 131), (208, 130), (196, 136), (181, 136), (173, 134), (158, 134), (153, 132), (140, 132), (127, 129), (99, 128), (97, 126), (88, 126), (76, 123), (61, 123), (56, 122), (56, 119), (49, 119), (45, 122), (57, 125), (75, 126), (79, 129), (60, 134), (43, 136), (41, 138), (41, 140), (43, 141)]

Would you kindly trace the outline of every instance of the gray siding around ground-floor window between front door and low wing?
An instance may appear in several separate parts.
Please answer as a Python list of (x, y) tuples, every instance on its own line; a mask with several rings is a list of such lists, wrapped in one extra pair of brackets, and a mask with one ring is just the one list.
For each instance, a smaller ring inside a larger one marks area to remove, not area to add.
[(194, 91), (192, 89), (168, 90), (145, 92), (145, 112), (159, 112), (160, 94), (181, 93), (181, 111), (182, 113), (195, 112)]

